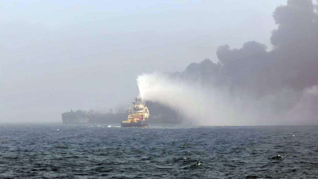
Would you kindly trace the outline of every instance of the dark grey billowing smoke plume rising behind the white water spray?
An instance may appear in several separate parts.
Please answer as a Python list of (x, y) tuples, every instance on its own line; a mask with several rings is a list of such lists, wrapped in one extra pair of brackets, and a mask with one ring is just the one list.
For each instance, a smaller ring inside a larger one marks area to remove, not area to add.
[(238, 105), (241, 111), (248, 103), (262, 114), (256, 118), (317, 123), (317, 11), (310, 0), (288, 0), (273, 12), (278, 25), (272, 31), (273, 50), (267, 51), (266, 45), (256, 41), (245, 42), (240, 49), (219, 46), (218, 63), (205, 59), (169, 77), (200, 83), (205, 91), (227, 91), (230, 99), (244, 101)]

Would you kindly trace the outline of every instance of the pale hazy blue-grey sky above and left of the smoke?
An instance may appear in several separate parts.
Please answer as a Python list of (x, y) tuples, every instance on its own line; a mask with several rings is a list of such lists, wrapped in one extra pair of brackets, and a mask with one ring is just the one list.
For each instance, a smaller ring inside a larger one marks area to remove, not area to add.
[(1, 122), (128, 105), (136, 77), (184, 70), (228, 44), (270, 44), (271, 1), (3, 1)]

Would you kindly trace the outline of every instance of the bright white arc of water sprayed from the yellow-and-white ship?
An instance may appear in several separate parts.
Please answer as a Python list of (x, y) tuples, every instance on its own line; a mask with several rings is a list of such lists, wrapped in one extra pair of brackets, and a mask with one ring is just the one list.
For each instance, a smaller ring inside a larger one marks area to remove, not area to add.
[(144, 101), (159, 102), (180, 111), (188, 124), (255, 125), (251, 116), (239, 120), (244, 114), (234, 107), (235, 102), (227, 99), (226, 92), (204, 89), (199, 84), (171, 79), (161, 73), (140, 75), (137, 84)]

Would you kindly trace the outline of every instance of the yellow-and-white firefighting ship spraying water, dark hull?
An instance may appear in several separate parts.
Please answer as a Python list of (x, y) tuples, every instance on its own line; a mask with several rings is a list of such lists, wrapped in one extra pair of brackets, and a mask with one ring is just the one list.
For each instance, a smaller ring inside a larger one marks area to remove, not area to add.
[(128, 120), (121, 121), (122, 127), (147, 127), (149, 110), (142, 102), (141, 97), (136, 97), (133, 105), (128, 110)]

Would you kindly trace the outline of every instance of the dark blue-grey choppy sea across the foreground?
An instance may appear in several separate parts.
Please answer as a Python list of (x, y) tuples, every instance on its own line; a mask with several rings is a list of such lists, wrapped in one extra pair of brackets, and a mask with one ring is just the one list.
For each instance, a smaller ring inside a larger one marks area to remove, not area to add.
[(318, 126), (0, 125), (0, 159), (0, 178), (317, 178)]

